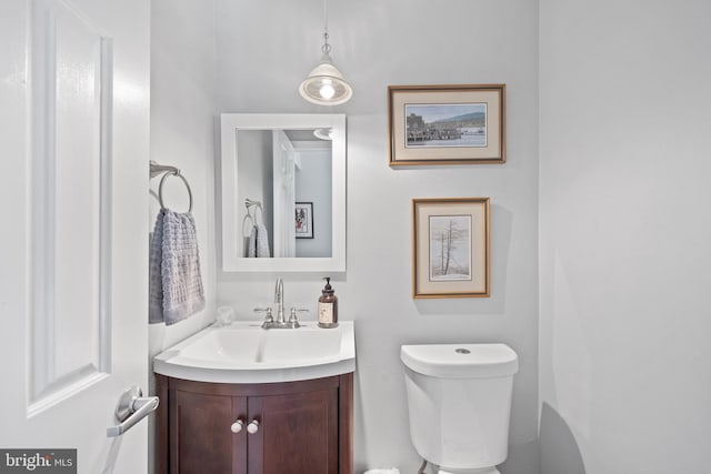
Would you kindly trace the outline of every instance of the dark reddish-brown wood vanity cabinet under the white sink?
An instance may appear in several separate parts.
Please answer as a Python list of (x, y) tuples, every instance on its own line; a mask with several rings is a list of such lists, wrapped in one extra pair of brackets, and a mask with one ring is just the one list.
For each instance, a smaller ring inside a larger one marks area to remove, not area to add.
[(264, 384), (156, 376), (158, 474), (353, 473), (352, 373)]

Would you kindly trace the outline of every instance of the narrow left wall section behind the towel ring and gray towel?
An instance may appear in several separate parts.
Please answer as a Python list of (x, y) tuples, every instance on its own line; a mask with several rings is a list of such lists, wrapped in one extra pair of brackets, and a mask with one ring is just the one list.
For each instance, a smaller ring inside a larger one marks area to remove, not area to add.
[[(207, 304), (176, 325), (151, 324), (150, 356), (214, 320), (214, 54), (212, 1), (152, 0), (150, 158), (179, 168), (192, 189)], [(160, 178), (151, 180), (153, 193), (159, 182)], [(188, 209), (188, 192), (179, 178), (168, 178), (163, 200), (176, 211)], [(158, 200), (151, 199), (151, 231), (159, 210)]]

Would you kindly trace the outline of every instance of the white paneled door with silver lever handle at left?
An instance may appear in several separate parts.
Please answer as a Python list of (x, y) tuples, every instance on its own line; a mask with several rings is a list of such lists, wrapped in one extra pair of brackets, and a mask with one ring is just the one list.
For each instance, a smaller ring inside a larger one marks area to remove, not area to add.
[(0, 9), (0, 472), (146, 473), (150, 2)]

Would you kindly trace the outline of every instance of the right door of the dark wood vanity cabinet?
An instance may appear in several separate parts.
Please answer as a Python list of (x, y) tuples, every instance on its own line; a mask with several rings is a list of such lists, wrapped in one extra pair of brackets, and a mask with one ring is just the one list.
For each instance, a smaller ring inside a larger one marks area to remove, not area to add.
[(249, 399), (250, 474), (338, 473), (338, 389)]

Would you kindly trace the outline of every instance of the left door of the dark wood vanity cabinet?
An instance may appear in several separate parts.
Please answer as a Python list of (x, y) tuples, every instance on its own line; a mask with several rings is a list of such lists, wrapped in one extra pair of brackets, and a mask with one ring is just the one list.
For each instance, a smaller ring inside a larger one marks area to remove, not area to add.
[(170, 410), (171, 474), (247, 473), (247, 399), (174, 391)]

